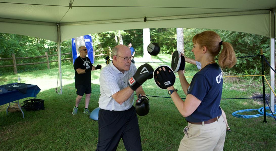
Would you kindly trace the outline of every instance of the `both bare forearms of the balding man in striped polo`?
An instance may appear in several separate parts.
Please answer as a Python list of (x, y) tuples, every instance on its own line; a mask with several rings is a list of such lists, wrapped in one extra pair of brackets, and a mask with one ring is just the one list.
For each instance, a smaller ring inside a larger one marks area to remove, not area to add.
[[(112, 95), (112, 98), (114, 98), (114, 100), (116, 102), (118, 102), (120, 105), (123, 104), (126, 100), (129, 99), (129, 97), (133, 94), (133, 90), (128, 86), (126, 88), (124, 88), (123, 90), (120, 90), (118, 92), (116, 92), (115, 94)], [(140, 86), (137, 90), (136, 90), (136, 93), (137, 93), (137, 97), (138, 97), (138, 94), (142, 93), (142, 94), (145, 94), (142, 86)]]

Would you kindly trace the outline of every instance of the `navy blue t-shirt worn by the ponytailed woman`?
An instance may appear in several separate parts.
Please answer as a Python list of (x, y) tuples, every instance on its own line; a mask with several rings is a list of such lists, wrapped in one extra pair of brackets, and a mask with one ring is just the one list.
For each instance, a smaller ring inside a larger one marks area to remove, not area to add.
[(221, 115), (222, 72), (218, 64), (209, 64), (193, 76), (187, 94), (201, 101), (186, 120), (202, 122)]

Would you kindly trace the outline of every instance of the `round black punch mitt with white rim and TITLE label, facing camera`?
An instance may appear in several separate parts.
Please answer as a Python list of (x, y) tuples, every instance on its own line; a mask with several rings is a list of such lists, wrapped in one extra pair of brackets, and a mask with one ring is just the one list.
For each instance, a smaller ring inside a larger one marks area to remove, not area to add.
[[(163, 67), (166, 71), (163, 70)], [(157, 71), (159, 72), (158, 74)], [(156, 85), (161, 89), (166, 89), (167, 87), (173, 86), (176, 79), (174, 72), (167, 65), (161, 65), (157, 67), (153, 72), (153, 76)]]

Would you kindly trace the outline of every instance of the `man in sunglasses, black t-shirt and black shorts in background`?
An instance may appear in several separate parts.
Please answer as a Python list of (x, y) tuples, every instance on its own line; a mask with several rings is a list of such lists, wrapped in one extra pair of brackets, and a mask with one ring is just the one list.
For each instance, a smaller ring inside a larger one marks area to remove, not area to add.
[(75, 115), (78, 112), (79, 102), (85, 93), (85, 108), (84, 113), (90, 115), (90, 111), (88, 109), (90, 96), (91, 96), (91, 71), (101, 69), (101, 65), (97, 65), (97, 67), (91, 64), (91, 61), (87, 55), (87, 49), (85, 46), (80, 46), (79, 56), (76, 58), (74, 62), (75, 69), (75, 88), (76, 94), (76, 104), (73, 108), (72, 114)]

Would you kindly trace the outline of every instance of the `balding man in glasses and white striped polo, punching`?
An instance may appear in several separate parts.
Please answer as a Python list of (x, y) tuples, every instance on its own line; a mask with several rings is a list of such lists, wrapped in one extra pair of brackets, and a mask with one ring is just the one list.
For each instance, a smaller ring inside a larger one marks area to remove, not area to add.
[(144, 64), (136, 69), (130, 49), (117, 45), (112, 49), (112, 63), (100, 72), (99, 137), (97, 149), (116, 150), (123, 139), (126, 150), (142, 150), (138, 118), (134, 103), (145, 97), (142, 83), (153, 77), (153, 69)]

